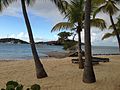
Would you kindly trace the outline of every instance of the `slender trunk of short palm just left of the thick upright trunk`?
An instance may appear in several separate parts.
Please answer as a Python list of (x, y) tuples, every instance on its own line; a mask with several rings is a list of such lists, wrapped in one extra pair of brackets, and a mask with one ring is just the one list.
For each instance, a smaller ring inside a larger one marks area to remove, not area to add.
[(81, 27), (78, 25), (77, 32), (78, 32), (78, 60), (79, 60), (79, 68), (84, 68), (84, 63), (82, 59), (82, 48), (81, 48)]

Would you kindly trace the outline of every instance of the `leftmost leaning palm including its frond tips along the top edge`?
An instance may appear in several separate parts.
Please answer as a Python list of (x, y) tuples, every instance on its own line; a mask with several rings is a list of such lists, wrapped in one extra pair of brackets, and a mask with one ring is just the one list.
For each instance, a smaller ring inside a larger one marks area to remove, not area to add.
[[(9, 3), (12, 3), (13, 1), (16, 1), (16, 0), (0, 0), (0, 10), (2, 10), (2, 4), (4, 4), (4, 6), (6, 7), (9, 5)], [(37, 78), (44, 78), (44, 77), (47, 77), (47, 74), (44, 70), (44, 67), (41, 61), (39, 60), (39, 56), (37, 54), (37, 50), (36, 50), (35, 43), (34, 43), (30, 21), (28, 19), (28, 15), (26, 11), (26, 3), (30, 4), (30, 2), (31, 0), (21, 0), (22, 11), (23, 11), (24, 20), (25, 20), (25, 24), (27, 27), (28, 35), (29, 35), (32, 54), (33, 54), (34, 61), (35, 61), (36, 75), (37, 75)]]

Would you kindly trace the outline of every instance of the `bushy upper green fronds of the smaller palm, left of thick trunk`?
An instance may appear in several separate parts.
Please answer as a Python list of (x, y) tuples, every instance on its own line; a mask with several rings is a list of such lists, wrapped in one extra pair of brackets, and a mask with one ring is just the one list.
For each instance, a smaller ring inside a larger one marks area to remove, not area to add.
[(65, 18), (72, 23), (82, 23), (84, 19), (84, 0), (73, 0), (68, 4), (66, 9)]

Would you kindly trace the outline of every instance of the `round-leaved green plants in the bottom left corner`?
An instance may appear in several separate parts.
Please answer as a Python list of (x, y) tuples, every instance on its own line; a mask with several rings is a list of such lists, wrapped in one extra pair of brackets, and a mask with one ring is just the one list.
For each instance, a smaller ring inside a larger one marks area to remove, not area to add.
[[(16, 81), (8, 81), (6, 83), (6, 89), (2, 88), (1, 90), (23, 90), (23, 85)], [(26, 90), (40, 90), (40, 85), (34, 84)]]

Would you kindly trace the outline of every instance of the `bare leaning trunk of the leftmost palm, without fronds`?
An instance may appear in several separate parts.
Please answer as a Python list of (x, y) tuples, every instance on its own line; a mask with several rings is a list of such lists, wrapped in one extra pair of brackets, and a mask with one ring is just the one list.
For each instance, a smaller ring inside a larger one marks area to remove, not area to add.
[(22, 4), (23, 16), (24, 16), (26, 27), (27, 27), (27, 30), (28, 30), (28, 35), (29, 35), (30, 45), (31, 45), (31, 49), (32, 49), (32, 54), (33, 54), (34, 61), (35, 61), (36, 75), (37, 75), (37, 78), (44, 78), (44, 77), (47, 77), (47, 74), (46, 74), (42, 63), (39, 60), (39, 56), (37, 54), (37, 50), (36, 50), (34, 39), (33, 39), (31, 25), (30, 25), (30, 22), (29, 22), (29, 19), (28, 19), (27, 11), (26, 11), (25, 0), (21, 0), (21, 4)]

